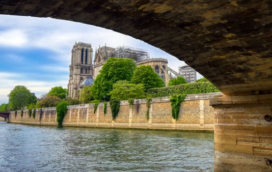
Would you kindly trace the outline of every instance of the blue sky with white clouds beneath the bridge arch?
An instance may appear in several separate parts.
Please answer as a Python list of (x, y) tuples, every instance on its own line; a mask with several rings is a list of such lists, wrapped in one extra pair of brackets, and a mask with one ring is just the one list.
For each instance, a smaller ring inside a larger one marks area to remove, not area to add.
[(168, 66), (177, 72), (179, 65), (185, 65), (156, 47), (109, 29), (51, 18), (0, 15), (0, 104), (8, 102), (7, 94), (17, 85), (27, 86), (37, 97), (51, 87), (67, 87), (76, 41), (91, 43), (93, 50), (105, 43), (146, 49), (150, 57), (167, 58)]

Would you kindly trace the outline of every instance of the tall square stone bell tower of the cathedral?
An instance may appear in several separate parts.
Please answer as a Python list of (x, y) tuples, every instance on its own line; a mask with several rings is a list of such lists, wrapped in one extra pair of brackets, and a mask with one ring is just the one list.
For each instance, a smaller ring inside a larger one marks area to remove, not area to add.
[(78, 99), (80, 96), (80, 86), (87, 78), (93, 78), (92, 64), (93, 49), (91, 44), (79, 42), (72, 48), (71, 65), (69, 66), (68, 97)]

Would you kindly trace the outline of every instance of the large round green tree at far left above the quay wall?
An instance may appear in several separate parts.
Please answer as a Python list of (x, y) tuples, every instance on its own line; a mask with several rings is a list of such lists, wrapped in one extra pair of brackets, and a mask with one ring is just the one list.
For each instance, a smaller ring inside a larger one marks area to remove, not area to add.
[(8, 97), (10, 108), (12, 110), (16, 110), (22, 109), (28, 104), (33, 103), (35, 96), (33, 97), (33, 95), (26, 86), (15, 86), (8, 94)]

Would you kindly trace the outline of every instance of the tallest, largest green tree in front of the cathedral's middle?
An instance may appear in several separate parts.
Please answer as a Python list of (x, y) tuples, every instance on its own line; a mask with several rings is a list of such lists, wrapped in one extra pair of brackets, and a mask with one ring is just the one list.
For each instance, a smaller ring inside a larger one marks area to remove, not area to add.
[(97, 100), (109, 100), (109, 92), (114, 83), (120, 80), (130, 81), (136, 62), (129, 58), (109, 58), (103, 65), (93, 85), (93, 96)]

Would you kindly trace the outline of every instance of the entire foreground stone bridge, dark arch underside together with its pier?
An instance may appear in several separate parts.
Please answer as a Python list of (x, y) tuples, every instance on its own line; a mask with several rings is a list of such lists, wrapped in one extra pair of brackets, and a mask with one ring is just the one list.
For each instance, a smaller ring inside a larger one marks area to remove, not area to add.
[(215, 171), (271, 171), (272, 0), (1, 0), (0, 14), (112, 29), (184, 60), (225, 94), (210, 100)]

